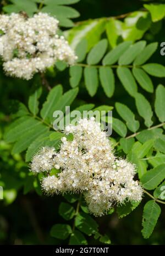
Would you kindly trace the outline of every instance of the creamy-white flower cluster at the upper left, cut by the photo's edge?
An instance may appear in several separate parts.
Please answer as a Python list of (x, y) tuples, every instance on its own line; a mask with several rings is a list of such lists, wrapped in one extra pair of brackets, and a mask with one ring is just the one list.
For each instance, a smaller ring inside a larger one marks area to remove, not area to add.
[(47, 13), (32, 18), (17, 13), (0, 15), (4, 71), (29, 80), (57, 60), (74, 64), (77, 57), (64, 36), (57, 35), (57, 29), (58, 20)]

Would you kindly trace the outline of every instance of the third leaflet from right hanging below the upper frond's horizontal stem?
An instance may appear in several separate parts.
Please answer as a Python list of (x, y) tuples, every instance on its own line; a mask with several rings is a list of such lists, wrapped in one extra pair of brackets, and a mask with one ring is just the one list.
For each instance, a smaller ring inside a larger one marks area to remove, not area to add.
[(130, 94), (130, 96), (135, 97), (135, 94), (138, 91), (138, 87), (128, 67), (118, 67), (117, 75), (125, 90)]

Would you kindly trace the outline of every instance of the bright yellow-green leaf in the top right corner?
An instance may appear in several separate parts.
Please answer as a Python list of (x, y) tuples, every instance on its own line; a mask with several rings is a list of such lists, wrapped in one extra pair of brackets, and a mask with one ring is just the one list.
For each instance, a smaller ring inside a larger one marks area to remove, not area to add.
[(144, 4), (144, 7), (151, 13), (153, 22), (157, 22), (165, 16), (165, 4)]

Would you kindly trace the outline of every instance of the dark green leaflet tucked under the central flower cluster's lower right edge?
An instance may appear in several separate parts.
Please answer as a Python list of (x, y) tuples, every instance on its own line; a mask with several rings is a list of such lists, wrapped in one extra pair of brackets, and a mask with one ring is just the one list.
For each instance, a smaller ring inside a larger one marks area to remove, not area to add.
[(127, 202), (121, 206), (117, 207), (117, 213), (119, 218), (123, 218), (127, 215), (129, 215), (130, 212), (132, 212), (140, 202)]

